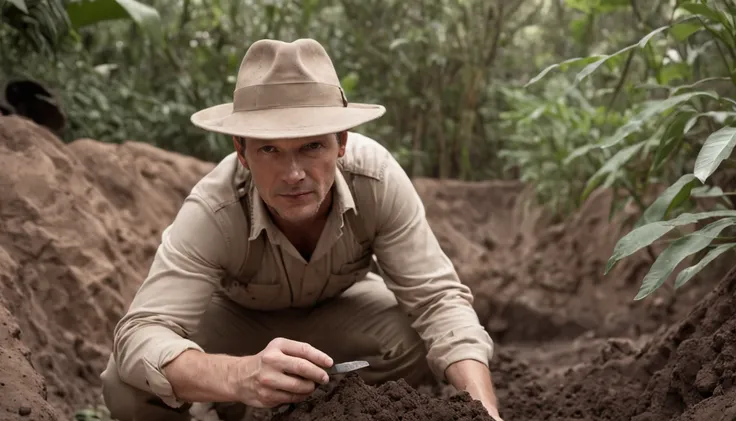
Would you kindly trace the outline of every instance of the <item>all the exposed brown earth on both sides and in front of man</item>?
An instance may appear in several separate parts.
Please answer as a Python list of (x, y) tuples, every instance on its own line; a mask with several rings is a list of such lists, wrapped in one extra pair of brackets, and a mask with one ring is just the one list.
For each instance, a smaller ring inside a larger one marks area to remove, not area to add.
[[(0, 117), (0, 420), (71, 419), (100, 403), (114, 324), (161, 230), (212, 167), (137, 142), (64, 145)], [(736, 274), (719, 284), (714, 266), (633, 301), (651, 258), (603, 276), (626, 232), (608, 221), (609, 193), (554, 223), (516, 182), (415, 184), (496, 340), (504, 420), (736, 417)], [(348, 376), (273, 419), (483, 419), (464, 399)]]

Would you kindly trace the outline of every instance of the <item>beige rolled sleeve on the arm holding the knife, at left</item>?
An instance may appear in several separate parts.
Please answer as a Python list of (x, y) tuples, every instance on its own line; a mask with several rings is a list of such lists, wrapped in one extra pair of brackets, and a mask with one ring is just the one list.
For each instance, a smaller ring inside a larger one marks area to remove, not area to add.
[(226, 237), (216, 214), (190, 194), (163, 232), (148, 276), (115, 327), (113, 355), (120, 378), (159, 396), (167, 405), (183, 404), (164, 375), (164, 366), (188, 349), (224, 272)]

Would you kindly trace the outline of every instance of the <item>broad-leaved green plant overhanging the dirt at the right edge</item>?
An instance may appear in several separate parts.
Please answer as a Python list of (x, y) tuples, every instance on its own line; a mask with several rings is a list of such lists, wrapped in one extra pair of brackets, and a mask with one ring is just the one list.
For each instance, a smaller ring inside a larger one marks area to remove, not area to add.
[[(624, 200), (635, 196), (641, 201), (652, 186), (669, 185), (652, 203), (641, 207), (639, 219), (618, 241), (605, 269), (608, 273), (621, 259), (666, 240), (642, 280), (637, 300), (662, 286), (686, 259), (692, 257), (693, 264), (677, 274), (675, 288), (736, 246), (736, 237), (729, 234), (736, 225), (736, 210), (728, 199), (734, 193), (713, 183), (717, 170), (730, 174), (736, 168), (730, 158), (736, 145), (734, 16), (733, 0), (679, 2), (672, 8), (670, 23), (651, 30), (638, 42), (610, 55), (554, 64), (527, 84), (555, 69), (581, 66), (571, 85), (574, 89), (607, 63), (625, 59), (613, 97), (625, 86), (650, 92), (646, 100), (631, 105), (632, 112), (615, 131), (578, 147), (562, 160), (570, 165), (592, 154), (605, 158), (588, 178), (582, 200), (599, 187), (623, 187), (629, 193)], [(636, 55), (640, 60), (634, 60)], [(635, 87), (625, 85), (637, 65), (649, 78)], [(724, 186), (733, 188), (734, 183)], [(706, 209), (701, 207), (704, 203)], [(692, 226), (692, 232), (685, 232)]]

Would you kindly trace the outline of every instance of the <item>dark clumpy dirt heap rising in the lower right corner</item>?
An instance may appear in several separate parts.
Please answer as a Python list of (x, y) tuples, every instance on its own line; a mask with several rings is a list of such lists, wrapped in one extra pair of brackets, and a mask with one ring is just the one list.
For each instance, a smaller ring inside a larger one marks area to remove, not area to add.
[(736, 417), (736, 269), (645, 349), (641, 369), (652, 375), (633, 421)]

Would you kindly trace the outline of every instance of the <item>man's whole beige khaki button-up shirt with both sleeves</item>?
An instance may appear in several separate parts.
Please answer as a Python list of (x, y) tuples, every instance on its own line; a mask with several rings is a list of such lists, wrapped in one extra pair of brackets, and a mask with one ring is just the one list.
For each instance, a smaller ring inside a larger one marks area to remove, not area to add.
[[(471, 292), (398, 162), (376, 141), (349, 133), (338, 169), (335, 206), (309, 262), (271, 222), (235, 153), (202, 178), (164, 230), (150, 273), (115, 328), (121, 379), (180, 406), (162, 367), (187, 349), (202, 351), (187, 338), (213, 293), (259, 310), (310, 306), (363, 279), (374, 256), (439, 380), (459, 360), (487, 365), (493, 343)], [(250, 252), (260, 257), (256, 265), (246, 265)]]

